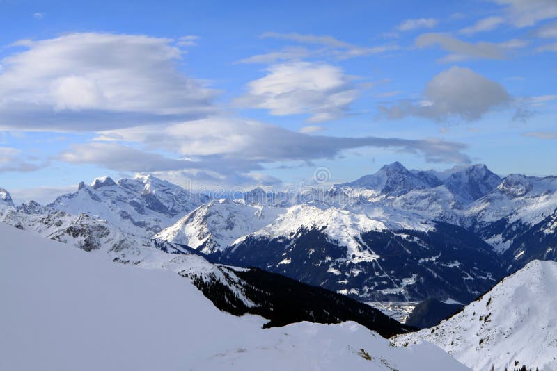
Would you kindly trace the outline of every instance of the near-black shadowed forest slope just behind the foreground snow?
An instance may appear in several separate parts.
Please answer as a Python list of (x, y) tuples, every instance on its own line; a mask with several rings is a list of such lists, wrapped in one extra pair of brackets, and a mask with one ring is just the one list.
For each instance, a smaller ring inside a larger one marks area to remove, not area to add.
[[(269, 320), (265, 327), (280, 327), (303, 321), (325, 324), (354, 321), (386, 338), (416, 330), (400, 324), (367, 304), (324, 288), (300, 283), (281, 274), (256, 268), (242, 270), (234, 267), (223, 267), (223, 272), (233, 273), (244, 281), (243, 300), (217, 280), (198, 279), (195, 275), (190, 278), (217, 308), (235, 315), (261, 315)], [(246, 299), (256, 305), (246, 305)]]

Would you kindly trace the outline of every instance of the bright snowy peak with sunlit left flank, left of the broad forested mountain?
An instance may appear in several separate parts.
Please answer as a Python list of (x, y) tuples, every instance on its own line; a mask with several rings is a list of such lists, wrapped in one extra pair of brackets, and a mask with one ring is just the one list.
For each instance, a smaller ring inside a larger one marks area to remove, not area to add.
[(219, 199), (182, 217), (155, 238), (187, 245), (204, 254), (217, 252), (235, 240), (271, 223), (284, 210), (260, 204)]

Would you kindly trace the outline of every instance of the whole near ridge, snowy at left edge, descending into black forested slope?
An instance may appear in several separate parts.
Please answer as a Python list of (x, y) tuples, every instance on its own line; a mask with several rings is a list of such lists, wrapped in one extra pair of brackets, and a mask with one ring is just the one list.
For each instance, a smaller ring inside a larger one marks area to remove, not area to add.
[[(382, 336), (409, 330), (344, 295), (260, 270), (214, 265), (187, 246), (135, 236), (86, 214), (71, 215), (31, 201), (0, 208), (0, 221), (113, 262), (172, 270), (194, 283), (222, 311), (261, 315), (269, 320), (267, 326), (353, 320)], [(288, 294), (283, 295), (287, 287)]]

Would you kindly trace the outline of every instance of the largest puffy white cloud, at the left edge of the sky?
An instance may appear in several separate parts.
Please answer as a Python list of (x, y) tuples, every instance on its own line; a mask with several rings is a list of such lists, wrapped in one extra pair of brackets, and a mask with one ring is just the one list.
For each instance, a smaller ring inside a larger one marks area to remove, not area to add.
[(178, 70), (172, 40), (74, 33), (17, 45), (26, 50), (1, 60), (1, 126), (94, 131), (212, 111), (216, 91)]

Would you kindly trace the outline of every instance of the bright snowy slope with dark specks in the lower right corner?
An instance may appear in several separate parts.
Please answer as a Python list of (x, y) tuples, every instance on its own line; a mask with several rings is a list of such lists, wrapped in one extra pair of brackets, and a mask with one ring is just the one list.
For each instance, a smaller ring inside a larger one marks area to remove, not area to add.
[(432, 342), (478, 371), (557, 370), (555, 308), (557, 263), (532, 261), (439, 326), (395, 343)]

